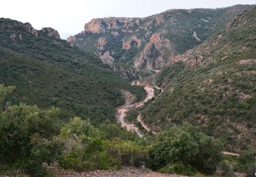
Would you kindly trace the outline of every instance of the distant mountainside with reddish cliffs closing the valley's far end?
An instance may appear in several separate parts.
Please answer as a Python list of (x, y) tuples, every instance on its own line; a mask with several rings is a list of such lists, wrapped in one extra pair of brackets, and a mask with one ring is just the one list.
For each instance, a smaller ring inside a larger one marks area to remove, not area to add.
[(136, 78), (138, 70), (162, 69), (170, 57), (201, 44), (248, 7), (167, 10), (146, 18), (95, 18), (85, 24), (83, 32), (68, 37), (68, 42), (98, 54), (122, 75)]

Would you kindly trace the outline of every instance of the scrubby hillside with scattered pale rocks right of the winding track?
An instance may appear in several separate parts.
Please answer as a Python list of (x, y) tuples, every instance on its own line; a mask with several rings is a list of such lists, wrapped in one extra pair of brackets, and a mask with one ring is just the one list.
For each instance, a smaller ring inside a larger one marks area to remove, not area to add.
[(164, 94), (141, 111), (153, 131), (188, 121), (227, 150), (256, 145), (256, 7), (158, 75)]

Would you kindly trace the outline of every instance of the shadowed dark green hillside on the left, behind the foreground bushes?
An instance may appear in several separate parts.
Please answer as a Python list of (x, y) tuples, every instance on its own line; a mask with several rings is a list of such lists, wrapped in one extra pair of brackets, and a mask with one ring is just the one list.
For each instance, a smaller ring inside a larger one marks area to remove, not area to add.
[(12, 103), (40, 108), (57, 106), (63, 118), (79, 115), (94, 124), (115, 121), (124, 103), (121, 89), (142, 99), (142, 88), (130, 86), (94, 54), (70, 48), (51, 28), (0, 19), (0, 83), (16, 86)]

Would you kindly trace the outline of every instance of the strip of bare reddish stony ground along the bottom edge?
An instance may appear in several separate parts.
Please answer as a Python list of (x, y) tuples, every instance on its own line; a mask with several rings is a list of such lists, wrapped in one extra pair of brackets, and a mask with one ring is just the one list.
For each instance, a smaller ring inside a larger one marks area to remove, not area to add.
[(69, 172), (65, 170), (57, 170), (57, 176), (109, 176), (109, 177), (119, 177), (119, 176), (126, 176), (126, 177), (182, 177), (175, 174), (160, 174), (157, 172), (143, 172), (143, 170), (134, 167), (124, 167), (122, 170), (111, 171), (111, 170), (97, 170), (94, 172)]

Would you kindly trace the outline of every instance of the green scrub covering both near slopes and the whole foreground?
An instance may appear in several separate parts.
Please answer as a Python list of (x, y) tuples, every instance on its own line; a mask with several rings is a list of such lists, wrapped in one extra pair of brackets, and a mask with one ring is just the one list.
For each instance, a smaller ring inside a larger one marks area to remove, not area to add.
[[(0, 174), (54, 176), (48, 165), (57, 163), (77, 172), (145, 166), (188, 176), (254, 176), (255, 13), (238, 16), (189, 51), (187, 62), (159, 74), (165, 93), (140, 110), (158, 133), (145, 138), (113, 123), (115, 106), (124, 103), (120, 89), (139, 100), (142, 88), (93, 54), (40, 31), (33, 37), (21, 23), (1, 18), (0, 82), (8, 86), (0, 84)], [(23, 41), (12, 42), (12, 33), (22, 33)], [(137, 114), (132, 110), (129, 120)], [(223, 157), (222, 150), (242, 153)]]

